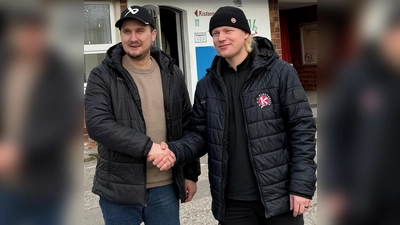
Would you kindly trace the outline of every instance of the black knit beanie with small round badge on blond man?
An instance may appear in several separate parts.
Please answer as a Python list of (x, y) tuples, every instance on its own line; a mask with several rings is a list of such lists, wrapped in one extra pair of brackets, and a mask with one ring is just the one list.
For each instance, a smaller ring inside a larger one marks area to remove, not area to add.
[(219, 8), (210, 19), (209, 32), (212, 36), (212, 30), (221, 26), (230, 26), (239, 28), (247, 33), (251, 33), (249, 22), (244, 12), (233, 6), (223, 6)]

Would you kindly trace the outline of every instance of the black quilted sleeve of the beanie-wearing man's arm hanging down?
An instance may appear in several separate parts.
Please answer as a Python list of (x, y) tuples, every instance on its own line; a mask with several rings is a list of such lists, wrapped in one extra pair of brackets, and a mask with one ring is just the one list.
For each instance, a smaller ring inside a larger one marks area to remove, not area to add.
[(315, 192), (317, 168), (314, 162), (315, 121), (296, 70), (286, 64), (279, 82), (290, 155), (289, 192), (311, 198)]

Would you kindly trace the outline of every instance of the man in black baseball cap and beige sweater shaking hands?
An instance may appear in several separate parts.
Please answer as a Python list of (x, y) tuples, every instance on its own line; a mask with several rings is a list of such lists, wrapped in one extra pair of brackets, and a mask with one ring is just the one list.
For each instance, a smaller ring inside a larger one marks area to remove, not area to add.
[(86, 89), (86, 127), (99, 143), (93, 192), (107, 225), (178, 225), (179, 199), (196, 193), (199, 161), (160, 171), (146, 158), (163, 154), (169, 166), (175, 162), (157, 143), (185, 133), (192, 110), (185, 79), (152, 46), (157, 31), (145, 8), (127, 8), (115, 26), (122, 42), (91, 71)]

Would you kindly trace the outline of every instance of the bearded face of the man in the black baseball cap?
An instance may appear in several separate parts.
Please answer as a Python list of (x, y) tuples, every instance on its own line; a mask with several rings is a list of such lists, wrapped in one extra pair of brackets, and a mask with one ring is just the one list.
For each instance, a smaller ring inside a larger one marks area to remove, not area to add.
[(133, 60), (140, 60), (150, 55), (150, 47), (156, 39), (156, 30), (139, 20), (129, 19), (121, 25), (121, 42), (126, 54)]

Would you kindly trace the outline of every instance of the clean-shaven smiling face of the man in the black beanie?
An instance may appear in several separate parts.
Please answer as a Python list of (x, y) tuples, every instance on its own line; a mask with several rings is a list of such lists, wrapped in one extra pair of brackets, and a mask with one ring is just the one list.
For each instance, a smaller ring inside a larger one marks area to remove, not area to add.
[(240, 58), (247, 55), (245, 48), (249, 34), (235, 27), (222, 26), (212, 30), (214, 47), (218, 54), (226, 59)]

